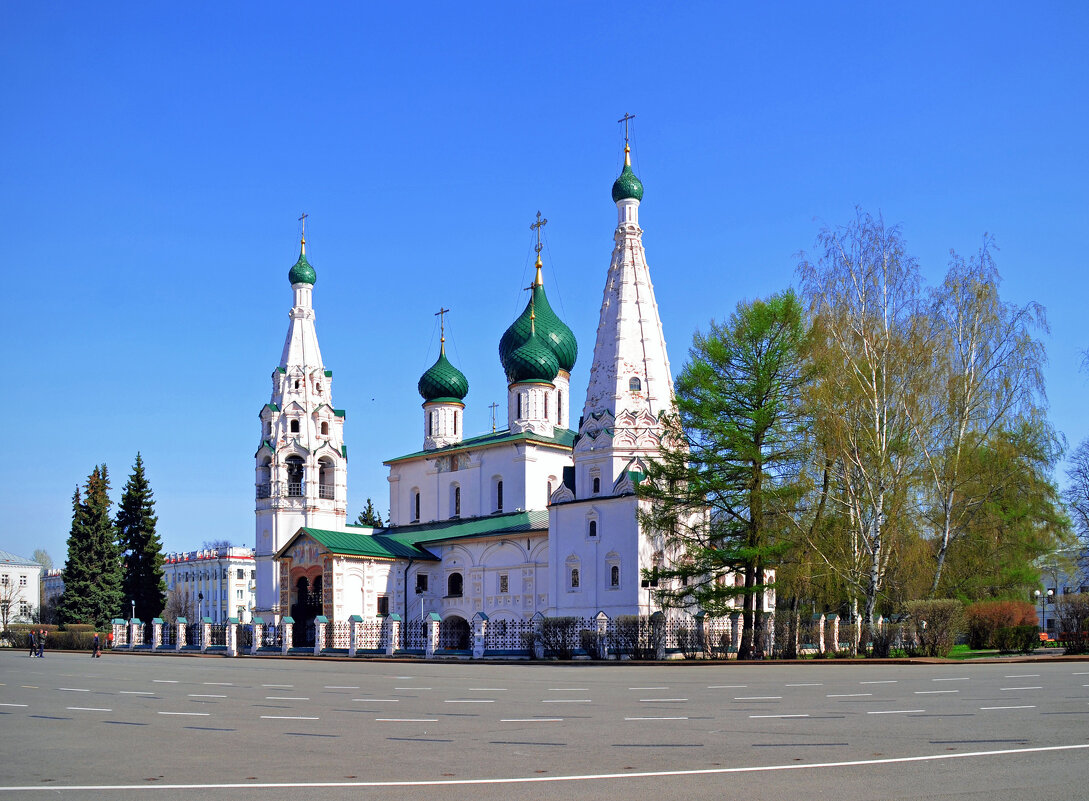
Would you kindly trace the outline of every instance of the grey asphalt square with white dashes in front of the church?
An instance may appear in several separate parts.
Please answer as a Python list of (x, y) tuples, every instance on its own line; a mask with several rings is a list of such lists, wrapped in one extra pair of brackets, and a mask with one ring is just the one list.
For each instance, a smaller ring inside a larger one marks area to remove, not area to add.
[(1089, 798), (1089, 663), (0, 652), (0, 801)]

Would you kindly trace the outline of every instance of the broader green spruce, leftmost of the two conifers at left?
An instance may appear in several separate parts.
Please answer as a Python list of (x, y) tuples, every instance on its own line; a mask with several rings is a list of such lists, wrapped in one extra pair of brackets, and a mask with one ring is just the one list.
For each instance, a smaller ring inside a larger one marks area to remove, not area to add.
[(102, 628), (121, 612), (121, 559), (109, 492), (109, 475), (101, 465), (87, 477), (82, 500), (78, 490), (73, 498), (64, 594), (58, 609), (63, 623)]

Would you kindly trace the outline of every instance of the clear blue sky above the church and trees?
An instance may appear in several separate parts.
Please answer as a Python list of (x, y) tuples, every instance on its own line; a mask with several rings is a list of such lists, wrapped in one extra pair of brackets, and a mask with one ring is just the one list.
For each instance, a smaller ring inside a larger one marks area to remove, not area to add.
[(351, 518), (368, 495), (386, 509), (382, 459), (421, 444), (440, 305), (466, 431), (490, 429), (538, 209), (580, 409), (624, 112), (674, 371), (696, 329), (794, 283), (798, 251), (860, 205), (903, 225), (930, 284), (950, 248), (996, 237), (1005, 299), (1048, 310), (1052, 420), (1089, 436), (1084, 2), (7, 2), (0, 19), (0, 549), (62, 564), (73, 489), (105, 461), (119, 495), (137, 451), (168, 550), (253, 544), (303, 211)]

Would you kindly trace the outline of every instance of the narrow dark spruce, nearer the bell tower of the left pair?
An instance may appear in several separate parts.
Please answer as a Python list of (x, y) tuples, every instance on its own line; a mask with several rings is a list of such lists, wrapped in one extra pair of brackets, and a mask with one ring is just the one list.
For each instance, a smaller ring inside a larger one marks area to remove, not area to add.
[(137, 453), (118, 507), (117, 530), (124, 566), (123, 599), (136, 602), (136, 617), (140, 620), (158, 617), (167, 605), (162, 541), (156, 532), (157, 522), (144, 459)]

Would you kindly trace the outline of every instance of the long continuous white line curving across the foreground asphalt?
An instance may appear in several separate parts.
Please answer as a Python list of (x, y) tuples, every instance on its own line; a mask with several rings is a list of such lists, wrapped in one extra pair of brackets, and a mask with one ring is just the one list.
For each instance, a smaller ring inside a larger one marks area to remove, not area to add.
[[(435, 723), (432, 720), (420, 720), (419, 723)], [(813, 762), (797, 763), (788, 762), (783, 765), (742, 765), (738, 767), (702, 767), (684, 771), (640, 771), (638, 773), (598, 773), (565, 776), (517, 776), (513, 778), (488, 778), (488, 779), (421, 779), (412, 780), (390, 780), (390, 781), (282, 781), (282, 782), (233, 782), (233, 784), (205, 784), (205, 785), (154, 785), (144, 782), (138, 785), (54, 785), (47, 788), (51, 792), (59, 790), (89, 790), (102, 792), (105, 790), (134, 790), (144, 792), (150, 790), (242, 790), (242, 789), (321, 789), (321, 788), (358, 788), (358, 787), (446, 787), (446, 786), (484, 786), (484, 785), (536, 785), (553, 781), (602, 781), (607, 779), (645, 779), (660, 778), (664, 776), (721, 776), (726, 774), (743, 773), (780, 773), (782, 771), (817, 771), (836, 767), (862, 767), (870, 765), (894, 765), (909, 762), (938, 762), (943, 760), (966, 760), (982, 756), (1008, 756), (1011, 754), (1047, 753), (1050, 751), (1075, 751), (1089, 749), (1089, 743), (1074, 743), (1070, 745), (1039, 745), (1035, 748), (1012, 748), (1003, 751), (965, 751), (959, 753), (942, 752), (937, 754), (919, 754), (917, 756), (884, 756), (874, 760), (854, 760), (845, 762)], [(30, 790), (40, 791), (40, 785), (26, 785), (20, 787), (0, 787), (0, 792), (27, 792)]]

